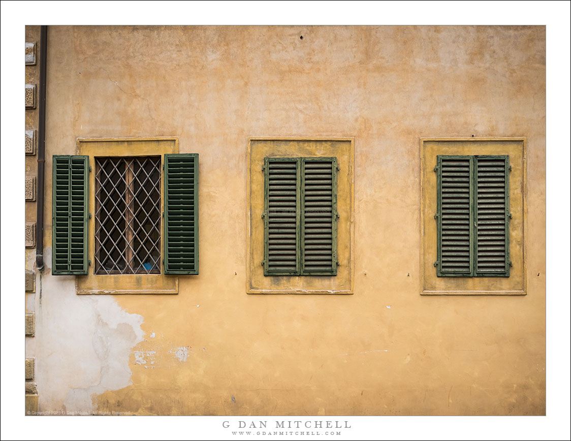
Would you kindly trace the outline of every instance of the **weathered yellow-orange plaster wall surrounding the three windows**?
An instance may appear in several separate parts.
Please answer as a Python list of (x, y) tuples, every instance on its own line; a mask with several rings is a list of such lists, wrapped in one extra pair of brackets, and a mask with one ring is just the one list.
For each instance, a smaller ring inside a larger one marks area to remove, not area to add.
[[(419, 139), (471, 135), (527, 137), (525, 296), (420, 295)], [(200, 154), (200, 275), (78, 296), (48, 268), (40, 410), (545, 413), (544, 27), (52, 26), (45, 243), (51, 155), (158, 136)], [(246, 294), (247, 138), (272, 136), (355, 138), (354, 295)]]

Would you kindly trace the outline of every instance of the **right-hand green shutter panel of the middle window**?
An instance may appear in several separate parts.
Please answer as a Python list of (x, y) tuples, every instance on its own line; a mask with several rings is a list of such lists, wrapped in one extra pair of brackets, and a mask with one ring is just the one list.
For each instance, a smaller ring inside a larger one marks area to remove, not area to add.
[(337, 274), (337, 158), (301, 159), (301, 274)]

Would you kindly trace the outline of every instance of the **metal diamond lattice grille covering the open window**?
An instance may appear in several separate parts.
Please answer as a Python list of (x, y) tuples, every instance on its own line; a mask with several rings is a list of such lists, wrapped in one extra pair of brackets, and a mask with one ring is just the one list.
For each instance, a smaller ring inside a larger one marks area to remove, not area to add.
[(95, 158), (95, 274), (160, 274), (160, 157)]

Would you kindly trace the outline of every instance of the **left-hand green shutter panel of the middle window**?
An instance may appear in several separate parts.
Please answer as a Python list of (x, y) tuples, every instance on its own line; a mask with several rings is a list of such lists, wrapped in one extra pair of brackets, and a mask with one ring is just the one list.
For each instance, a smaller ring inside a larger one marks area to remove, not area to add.
[(264, 275), (299, 274), (299, 163), (264, 160)]

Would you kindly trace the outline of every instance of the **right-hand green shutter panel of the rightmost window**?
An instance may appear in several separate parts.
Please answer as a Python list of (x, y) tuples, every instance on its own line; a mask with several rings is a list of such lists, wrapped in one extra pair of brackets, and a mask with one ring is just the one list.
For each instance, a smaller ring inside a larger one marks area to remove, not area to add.
[(509, 276), (509, 157), (475, 158), (476, 275)]

